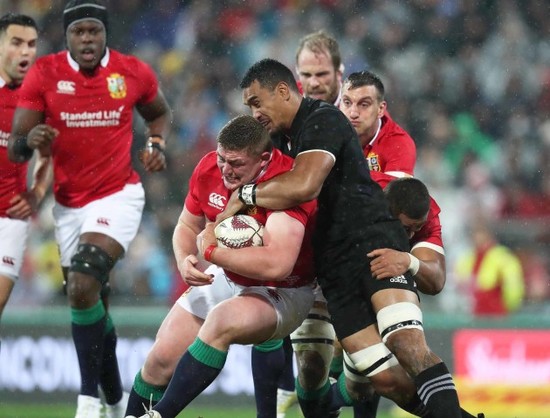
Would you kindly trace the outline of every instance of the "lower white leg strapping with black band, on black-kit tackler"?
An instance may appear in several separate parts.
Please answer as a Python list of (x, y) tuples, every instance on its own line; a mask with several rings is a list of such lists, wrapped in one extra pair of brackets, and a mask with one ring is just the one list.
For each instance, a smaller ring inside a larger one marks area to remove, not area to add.
[(392, 366), (399, 364), (384, 343), (378, 343), (353, 354), (344, 352), (344, 373), (349, 380), (364, 383)]

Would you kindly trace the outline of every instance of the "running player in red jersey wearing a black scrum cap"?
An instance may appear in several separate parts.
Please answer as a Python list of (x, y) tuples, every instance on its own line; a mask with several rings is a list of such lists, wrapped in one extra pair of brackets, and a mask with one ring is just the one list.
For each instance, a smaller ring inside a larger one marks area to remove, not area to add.
[(63, 12), (68, 51), (37, 60), (21, 88), (9, 140), (12, 161), (50, 152), (55, 234), (71, 307), (81, 377), (77, 418), (108, 417), (126, 401), (108, 313), (109, 273), (135, 237), (145, 194), (131, 164), (134, 108), (147, 126), (148, 172), (166, 167), (171, 112), (153, 70), (107, 47), (107, 10), (71, 0)]

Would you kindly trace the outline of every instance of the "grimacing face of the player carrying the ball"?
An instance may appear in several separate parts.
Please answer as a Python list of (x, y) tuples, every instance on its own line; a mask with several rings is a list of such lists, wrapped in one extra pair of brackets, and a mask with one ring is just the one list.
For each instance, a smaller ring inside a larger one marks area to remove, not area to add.
[(252, 156), (247, 151), (230, 151), (221, 145), (218, 145), (216, 152), (223, 185), (231, 191), (252, 183), (269, 161), (268, 152)]

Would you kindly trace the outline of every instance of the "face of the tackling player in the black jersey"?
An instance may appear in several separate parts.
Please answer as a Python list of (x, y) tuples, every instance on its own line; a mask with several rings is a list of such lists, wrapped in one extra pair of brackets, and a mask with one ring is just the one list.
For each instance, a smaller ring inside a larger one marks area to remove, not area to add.
[[(243, 90), (243, 101), (252, 111), (252, 116), (259, 121), (270, 134), (281, 132), (290, 127), (285, 118), (285, 98), (288, 86), (279, 83), (275, 90), (263, 88), (254, 81)], [(292, 116), (294, 117), (294, 116)]]

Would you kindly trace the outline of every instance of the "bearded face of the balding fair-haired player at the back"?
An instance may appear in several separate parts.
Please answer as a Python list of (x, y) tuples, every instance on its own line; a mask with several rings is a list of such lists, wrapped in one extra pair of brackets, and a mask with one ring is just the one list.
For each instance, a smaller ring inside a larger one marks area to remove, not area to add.
[(296, 62), (296, 72), (306, 97), (334, 103), (338, 98), (342, 73), (334, 68), (330, 55), (303, 49)]

